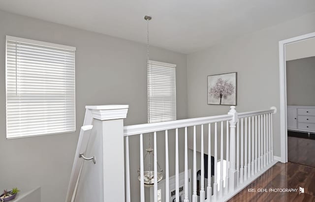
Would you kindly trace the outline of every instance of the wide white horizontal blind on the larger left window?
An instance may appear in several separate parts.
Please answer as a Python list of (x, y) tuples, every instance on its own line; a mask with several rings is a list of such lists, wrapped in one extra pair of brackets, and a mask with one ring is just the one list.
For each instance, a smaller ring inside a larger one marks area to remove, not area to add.
[(75, 131), (75, 48), (6, 36), (6, 137)]

